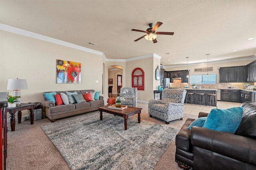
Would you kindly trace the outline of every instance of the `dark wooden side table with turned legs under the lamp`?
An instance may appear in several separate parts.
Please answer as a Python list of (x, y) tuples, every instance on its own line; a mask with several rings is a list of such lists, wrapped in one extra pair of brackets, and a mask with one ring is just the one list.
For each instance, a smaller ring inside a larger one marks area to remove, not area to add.
[(20, 106), (7, 107), (7, 111), (11, 115), (11, 130), (15, 131), (15, 113), (18, 112), (18, 123), (21, 123), (21, 111), (30, 110), (30, 124), (34, 124), (34, 108), (35, 104), (31, 103), (21, 103)]

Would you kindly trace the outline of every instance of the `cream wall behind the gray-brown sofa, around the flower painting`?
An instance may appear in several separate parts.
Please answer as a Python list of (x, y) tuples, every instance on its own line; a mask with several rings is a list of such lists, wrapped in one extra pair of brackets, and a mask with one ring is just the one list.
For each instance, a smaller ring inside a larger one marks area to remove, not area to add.
[[(28, 84), (28, 89), (21, 90), (22, 103), (42, 102), (45, 91), (94, 89), (102, 92), (101, 55), (6, 31), (0, 34), (0, 91), (13, 95), (13, 91), (6, 90), (7, 82), (18, 77), (26, 79)], [(81, 83), (57, 84), (56, 59), (81, 63)]]

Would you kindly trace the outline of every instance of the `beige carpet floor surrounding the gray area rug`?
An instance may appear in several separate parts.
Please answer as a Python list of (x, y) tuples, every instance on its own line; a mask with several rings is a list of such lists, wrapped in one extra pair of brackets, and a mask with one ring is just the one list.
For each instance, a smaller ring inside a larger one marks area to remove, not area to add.
[[(196, 119), (198, 117), (198, 115), (184, 114), (182, 121), (175, 120), (166, 125), (160, 119), (149, 117), (146, 103), (138, 103), (138, 107), (142, 108), (141, 121), (146, 120), (177, 129), (181, 128), (187, 118)], [(136, 115), (134, 116), (136, 117)], [(98, 117), (100, 119), (99, 112)], [(57, 122), (70, 118), (72, 117), (60, 119)], [(15, 131), (7, 133), (7, 170), (70, 170), (60, 152), (41, 128), (41, 126), (48, 124), (51, 124), (49, 119), (34, 121), (33, 125), (30, 125), (29, 121), (20, 124), (16, 122)], [(8, 123), (8, 129), (11, 129), (10, 123)], [(154, 170), (180, 170), (175, 162), (175, 149), (174, 140), (164, 152)]]

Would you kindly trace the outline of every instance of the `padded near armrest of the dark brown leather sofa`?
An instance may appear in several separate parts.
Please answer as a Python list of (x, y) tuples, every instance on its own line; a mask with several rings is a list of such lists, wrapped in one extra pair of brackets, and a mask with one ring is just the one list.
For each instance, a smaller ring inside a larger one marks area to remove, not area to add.
[(256, 140), (202, 127), (191, 128), (191, 144), (256, 165)]

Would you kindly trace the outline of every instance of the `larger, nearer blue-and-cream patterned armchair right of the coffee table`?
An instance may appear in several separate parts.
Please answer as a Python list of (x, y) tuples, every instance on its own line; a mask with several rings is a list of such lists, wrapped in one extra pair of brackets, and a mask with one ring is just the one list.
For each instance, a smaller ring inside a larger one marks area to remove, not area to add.
[(161, 100), (151, 99), (148, 102), (149, 116), (164, 120), (166, 124), (182, 120), (186, 92), (184, 89), (164, 89)]

